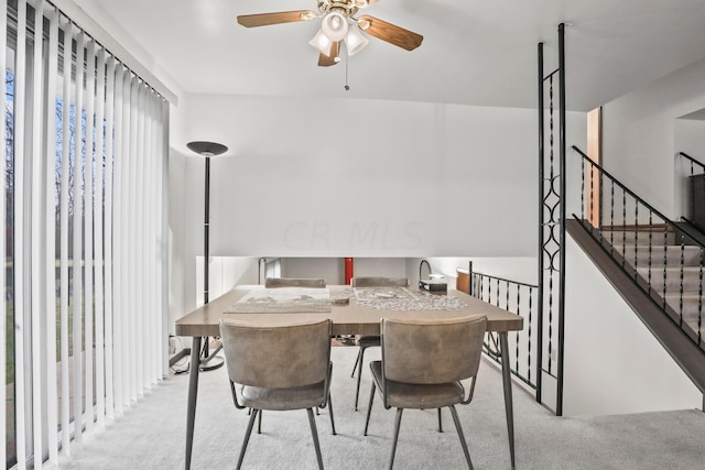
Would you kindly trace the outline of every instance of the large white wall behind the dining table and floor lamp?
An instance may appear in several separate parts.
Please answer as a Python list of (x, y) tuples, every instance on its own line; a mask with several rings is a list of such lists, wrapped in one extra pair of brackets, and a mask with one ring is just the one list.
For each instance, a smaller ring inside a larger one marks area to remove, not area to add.
[[(214, 254), (535, 252), (534, 110), (200, 95), (187, 112), (172, 141), (229, 136), (212, 163)], [(585, 116), (571, 124), (584, 141)], [(187, 164), (198, 198), (203, 163)]]

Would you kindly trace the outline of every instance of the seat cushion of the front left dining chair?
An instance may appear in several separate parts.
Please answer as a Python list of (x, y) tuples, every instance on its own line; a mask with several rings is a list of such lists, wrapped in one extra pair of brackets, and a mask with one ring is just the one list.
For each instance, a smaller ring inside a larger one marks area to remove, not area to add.
[(243, 385), (242, 405), (257, 409), (302, 409), (325, 403), (325, 382), (291, 389), (262, 389)]

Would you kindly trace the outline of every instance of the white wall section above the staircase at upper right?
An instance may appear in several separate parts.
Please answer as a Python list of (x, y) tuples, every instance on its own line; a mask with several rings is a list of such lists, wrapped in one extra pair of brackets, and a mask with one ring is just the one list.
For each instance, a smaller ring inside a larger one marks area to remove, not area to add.
[(677, 218), (681, 210), (674, 175), (674, 155), (681, 151), (675, 120), (705, 108), (703, 84), (705, 61), (603, 108), (605, 167), (666, 217)]

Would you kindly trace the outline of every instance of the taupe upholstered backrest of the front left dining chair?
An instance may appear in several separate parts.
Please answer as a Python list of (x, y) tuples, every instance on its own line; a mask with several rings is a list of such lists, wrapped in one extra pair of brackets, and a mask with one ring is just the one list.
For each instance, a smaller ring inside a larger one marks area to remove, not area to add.
[(228, 376), (241, 385), (289, 389), (326, 380), (330, 319), (263, 327), (220, 320)]

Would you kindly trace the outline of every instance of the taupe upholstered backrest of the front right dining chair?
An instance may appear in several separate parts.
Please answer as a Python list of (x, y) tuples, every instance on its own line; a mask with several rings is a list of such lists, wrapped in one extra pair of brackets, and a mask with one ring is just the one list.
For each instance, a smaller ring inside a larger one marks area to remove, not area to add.
[(486, 328), (485, 316), (434, 320), (382, 318), (384, 378), (415, 384), (474, 378)]

